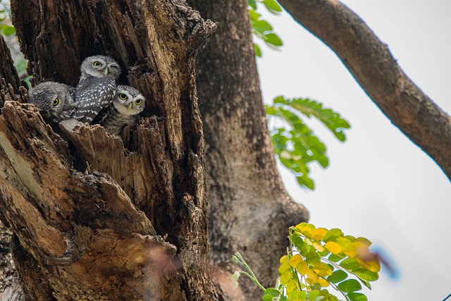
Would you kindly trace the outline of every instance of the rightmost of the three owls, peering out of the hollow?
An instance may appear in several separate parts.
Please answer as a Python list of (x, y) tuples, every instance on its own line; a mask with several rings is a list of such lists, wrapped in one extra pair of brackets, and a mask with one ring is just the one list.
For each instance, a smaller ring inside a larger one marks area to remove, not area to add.
[(126, 125), (135, 125), (137, 117), (144, 110), (144, 96), (134, 87), (116, 87), (113, 102), (98, 116), (97, 122), (117, 137), (122, 135)]

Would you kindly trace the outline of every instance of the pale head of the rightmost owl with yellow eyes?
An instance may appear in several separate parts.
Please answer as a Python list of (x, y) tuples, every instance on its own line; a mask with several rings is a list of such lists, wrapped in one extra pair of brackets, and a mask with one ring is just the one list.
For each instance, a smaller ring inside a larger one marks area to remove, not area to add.
[(144, 110), (146, 99), (140, 91), (130, 86), (117, 86), (113, 106), (123, 115), (137, 115)]

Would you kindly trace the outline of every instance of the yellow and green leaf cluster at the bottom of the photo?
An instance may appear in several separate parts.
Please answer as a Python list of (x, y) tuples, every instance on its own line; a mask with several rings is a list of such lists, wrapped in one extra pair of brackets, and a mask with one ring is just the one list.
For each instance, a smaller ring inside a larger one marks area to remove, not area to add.
[(378, 279), (381, 269), (378, 256), (369, 252), (369, 240), (344, 235), (338, 228), (316, 228), (310, 223), (290, 227), (288, 238), (290, 248), (280, 258), (275, 288), (265, 289), (239, 253), (233, 261), (248, 272), (235, 272), (233, 281), (245, 274), (264, 291), (264, 301), (338, 301), (328, 291), (329, 286), (346, 301), (367, 301), (366, 295), (357, 292), (362, 290), (362, 284), (371, 290), (370, 281)]

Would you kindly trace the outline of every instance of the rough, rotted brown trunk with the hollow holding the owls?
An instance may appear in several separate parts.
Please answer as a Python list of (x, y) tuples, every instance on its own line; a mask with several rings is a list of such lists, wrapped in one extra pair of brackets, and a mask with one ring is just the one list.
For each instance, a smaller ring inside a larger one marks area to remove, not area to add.
[(5, 102), (0, 217), (16, 235), (13, 254), (27, 295), (223, 299), (208, 264), (194, 78), (197, 51), (214, 23), (184, 1), (13, 0), (11, 7), (38, 82), (75, 85), (82, 59), (107, 54), (125, 70), (121, 81), (147, 97), (129, 149), (99, 125), (51, 128), (34, 106)]

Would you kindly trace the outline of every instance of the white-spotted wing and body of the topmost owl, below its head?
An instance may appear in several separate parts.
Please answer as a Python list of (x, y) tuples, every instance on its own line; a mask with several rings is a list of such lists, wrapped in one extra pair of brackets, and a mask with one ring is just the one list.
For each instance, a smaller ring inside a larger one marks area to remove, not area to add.
[(113, 101), (116, 83), (114, 78), (92, 78), (75, 90), (75, 119), (91, 124), (101, 109)]

